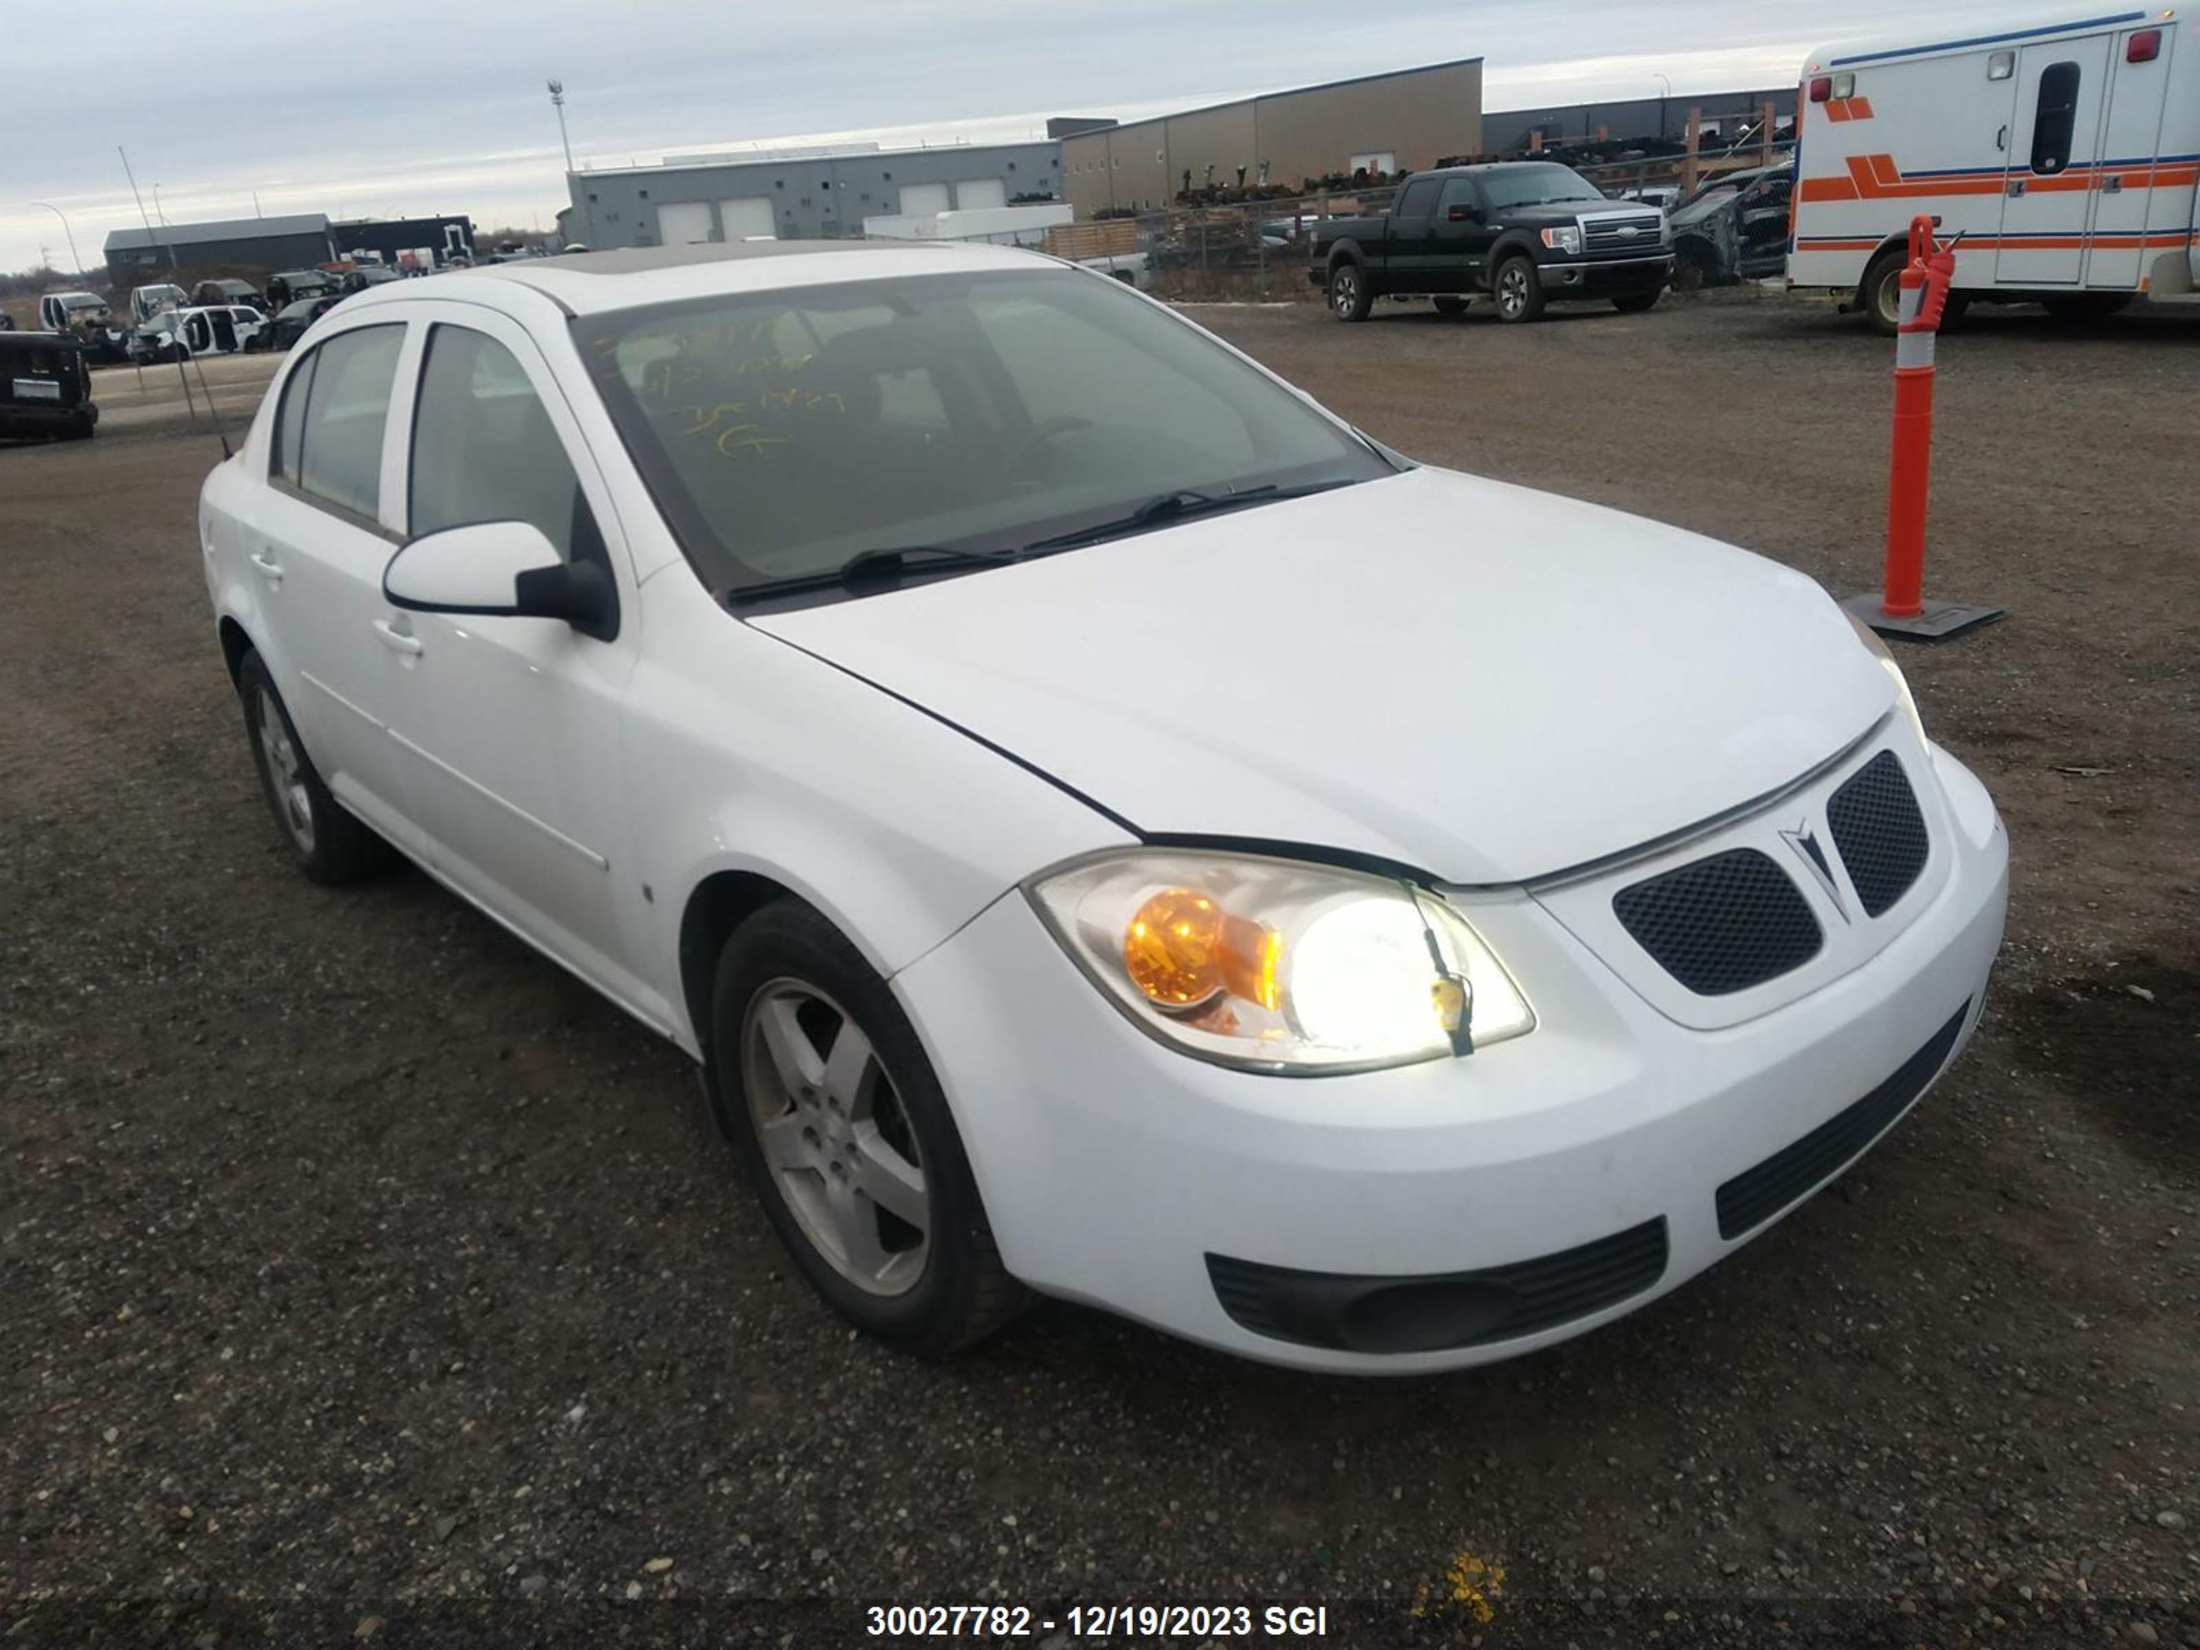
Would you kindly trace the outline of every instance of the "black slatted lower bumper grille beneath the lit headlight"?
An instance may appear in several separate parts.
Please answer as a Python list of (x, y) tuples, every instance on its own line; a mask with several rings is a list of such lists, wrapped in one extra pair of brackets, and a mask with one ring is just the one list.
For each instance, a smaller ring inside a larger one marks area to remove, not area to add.
[(1588, 1318), (1665, 1276), (1663, 1217), (1478, 1272), (1366, 1278), (1208, 1256), (1223, 1311), (1256, 1335), (1355, 1353), (1448, 1351)]

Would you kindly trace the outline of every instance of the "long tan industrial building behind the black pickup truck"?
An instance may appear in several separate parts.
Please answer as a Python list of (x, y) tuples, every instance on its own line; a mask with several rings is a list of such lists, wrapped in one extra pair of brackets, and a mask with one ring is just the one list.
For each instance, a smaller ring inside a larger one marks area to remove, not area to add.
[(1243, 97), (1184, 114), (1063, 134), (1063, 194), (1078, 218), (1166, 207), (1192, 187), (1296, 185), (1331, 172), (1397, 172), (1483, 147), (1483, 59)]

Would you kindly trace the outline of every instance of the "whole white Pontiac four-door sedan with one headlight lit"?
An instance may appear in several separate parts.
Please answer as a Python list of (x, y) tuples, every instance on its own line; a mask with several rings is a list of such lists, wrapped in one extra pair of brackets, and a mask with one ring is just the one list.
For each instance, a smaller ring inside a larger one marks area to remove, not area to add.
[(1034, 253), (361, 293), (200, 504), (317, 882), (411, 858), (702, 1067), (816, 1289), (1430, 1371), (1674, 1289), (1978, 1023), (2009, 847), (1888, 651), (1417, 466)]

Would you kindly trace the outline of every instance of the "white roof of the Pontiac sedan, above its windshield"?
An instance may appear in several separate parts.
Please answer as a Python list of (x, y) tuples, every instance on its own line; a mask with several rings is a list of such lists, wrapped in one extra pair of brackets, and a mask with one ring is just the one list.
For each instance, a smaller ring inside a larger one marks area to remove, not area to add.
[(766, 293), (785, 286), (937, 275), (966, 268), (1058, 266), (1016, 246), (957, 240), (744, 240), (700, 246), (627, 246), (601, 253), (524, 257), (515, 264), (453, 268), (416, 282), (389, 282), (359, 304), (453, 297), (453, 282), (504, 282), (541, 293), (568, 315), (596, 315), (713, 293)]

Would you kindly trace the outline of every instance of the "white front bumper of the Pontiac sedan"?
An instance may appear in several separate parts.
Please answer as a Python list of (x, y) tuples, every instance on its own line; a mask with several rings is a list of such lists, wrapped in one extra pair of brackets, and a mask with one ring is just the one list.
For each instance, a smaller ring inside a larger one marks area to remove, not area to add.
[(1472, 917), (1538, 1030), (1388, 1071), (1278, 1078), (1162, 1045), (1021, 893), (893, 986), (1027, 1285), (1274, 1364), (1463, 1368), (1679, 1287), (1956, 1058), (2009, 843), (1978, 781), (1932, 763), (1956, 840), (1929, 904), (1861, 968), (1723, 1030), (1668, 1019), (1527, 900)]

